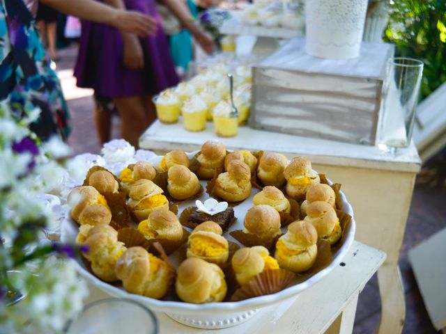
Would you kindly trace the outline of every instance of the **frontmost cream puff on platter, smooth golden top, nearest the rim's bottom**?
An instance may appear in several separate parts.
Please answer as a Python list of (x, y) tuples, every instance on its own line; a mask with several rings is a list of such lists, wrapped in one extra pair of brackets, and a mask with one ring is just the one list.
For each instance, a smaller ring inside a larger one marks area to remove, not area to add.
[(190, 257), (178, 268), (176, 294), (187, 303), (215, 303), (226, 296), (224, 273), (217, 264)]

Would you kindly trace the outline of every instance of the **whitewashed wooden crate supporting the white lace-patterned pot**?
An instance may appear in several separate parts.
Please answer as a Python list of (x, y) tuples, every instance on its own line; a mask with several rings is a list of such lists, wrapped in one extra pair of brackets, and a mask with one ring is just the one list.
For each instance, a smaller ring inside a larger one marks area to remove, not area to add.
[(253, 67), (256, 129), (374, 145), (387, 59), (394, 46), (363, 42), (359, 58), (321, 59), (293, 38)]

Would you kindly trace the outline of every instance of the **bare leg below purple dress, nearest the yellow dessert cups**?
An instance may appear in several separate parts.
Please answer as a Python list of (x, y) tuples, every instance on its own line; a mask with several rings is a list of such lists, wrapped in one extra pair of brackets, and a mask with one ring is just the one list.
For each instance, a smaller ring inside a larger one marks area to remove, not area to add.
[(121, 136), (137, 148), (139, 136), (149, 125), (145, 99), (141, 96), (115, 97), (114, 103), (122, 119)]

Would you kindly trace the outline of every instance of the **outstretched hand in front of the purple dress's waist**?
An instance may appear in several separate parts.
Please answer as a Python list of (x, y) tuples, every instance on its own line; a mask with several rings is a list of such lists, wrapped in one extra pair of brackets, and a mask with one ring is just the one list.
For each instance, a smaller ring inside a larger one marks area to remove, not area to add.
[(116, 10), (113, 24), (120, 31), (134, 33), (139, 37), (153, 36), (157, 32), (155, 19), (134, 10)]

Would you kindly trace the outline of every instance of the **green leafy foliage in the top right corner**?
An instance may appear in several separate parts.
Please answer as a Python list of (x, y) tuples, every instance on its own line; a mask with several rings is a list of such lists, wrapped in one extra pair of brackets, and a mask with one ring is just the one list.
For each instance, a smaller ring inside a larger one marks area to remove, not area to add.
[(384, 40), (397, 56), (424, 62), (422, 99), (446, 81), (445, 0), (395, 0)]

